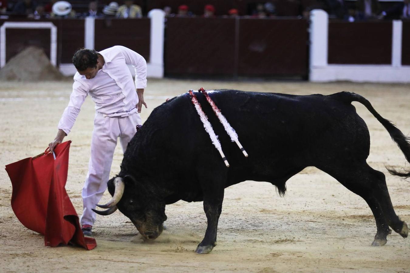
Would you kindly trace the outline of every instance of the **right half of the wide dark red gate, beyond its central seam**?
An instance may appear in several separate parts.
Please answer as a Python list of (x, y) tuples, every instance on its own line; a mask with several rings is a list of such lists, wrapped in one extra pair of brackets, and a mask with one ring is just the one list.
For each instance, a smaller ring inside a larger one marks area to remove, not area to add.
[(307, 75), (307, 20), (239, 20), (239, 75)]

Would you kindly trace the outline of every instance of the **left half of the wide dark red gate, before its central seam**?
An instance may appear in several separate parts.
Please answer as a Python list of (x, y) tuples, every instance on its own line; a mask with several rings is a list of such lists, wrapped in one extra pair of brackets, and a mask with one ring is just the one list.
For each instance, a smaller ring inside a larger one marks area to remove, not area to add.
[(166, 74), (233, 74), (235, 19), (168, 18)]

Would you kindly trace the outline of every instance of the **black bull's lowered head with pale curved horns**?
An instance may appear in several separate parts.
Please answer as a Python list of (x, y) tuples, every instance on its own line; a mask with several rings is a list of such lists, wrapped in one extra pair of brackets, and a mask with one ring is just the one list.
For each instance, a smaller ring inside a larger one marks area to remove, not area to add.
[(97, 205), (107, 210), (94, 212), (109, 215), (118, 209), (130, 218), (145, 239), (153, 240), (161, 234), (166, 220), (165, 203), (152, 189), (142, 187), (131, 176), (118, 176), (108, 181), (108, 191), (112, 199), (105, 205)]

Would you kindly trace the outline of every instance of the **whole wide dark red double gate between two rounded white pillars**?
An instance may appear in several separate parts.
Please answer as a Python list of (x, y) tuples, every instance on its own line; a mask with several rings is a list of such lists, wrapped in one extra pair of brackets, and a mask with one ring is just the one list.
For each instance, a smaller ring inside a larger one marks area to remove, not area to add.
[(168, 18), (166, 75), (307, 75), (307, 21)]

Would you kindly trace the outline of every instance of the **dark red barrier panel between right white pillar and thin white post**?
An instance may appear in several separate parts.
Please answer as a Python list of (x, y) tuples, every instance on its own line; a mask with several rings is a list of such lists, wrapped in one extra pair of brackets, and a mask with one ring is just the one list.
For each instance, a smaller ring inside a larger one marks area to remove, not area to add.
[(328, 39), (328, 63), (392, 63), (391, 21), (330, 21)]

